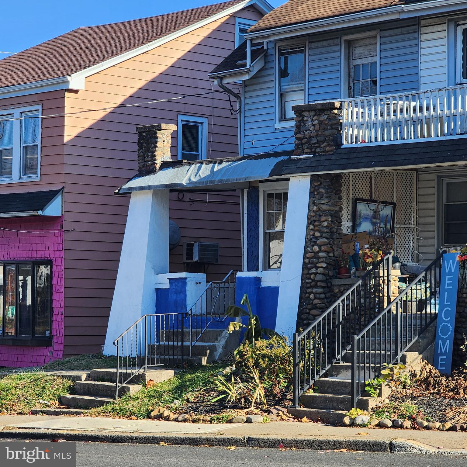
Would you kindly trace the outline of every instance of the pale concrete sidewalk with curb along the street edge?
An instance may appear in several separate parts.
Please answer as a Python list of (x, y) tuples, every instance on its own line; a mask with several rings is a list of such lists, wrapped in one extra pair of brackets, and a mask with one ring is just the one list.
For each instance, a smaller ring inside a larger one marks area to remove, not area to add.
[(2, 415), (0, 438), (116, 443), (294, 447), (467, 455), (467, 434), (396, 428), (336, 427), (318, 423), (192, 424), (102, 417)]

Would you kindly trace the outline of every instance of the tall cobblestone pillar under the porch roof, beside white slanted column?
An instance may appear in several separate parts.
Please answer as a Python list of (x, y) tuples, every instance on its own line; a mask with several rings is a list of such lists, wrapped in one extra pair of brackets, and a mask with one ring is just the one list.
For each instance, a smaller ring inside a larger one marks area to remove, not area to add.
[(342, 254), (342, 175), (312, 175), (297, 330), (335, 300), (333, 276)]

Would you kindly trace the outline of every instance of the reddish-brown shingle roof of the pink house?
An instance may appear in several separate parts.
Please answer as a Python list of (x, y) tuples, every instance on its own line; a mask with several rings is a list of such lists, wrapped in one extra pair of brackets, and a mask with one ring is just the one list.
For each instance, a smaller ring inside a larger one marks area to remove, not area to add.
[(0, 60), (0, 88), (60, 78), (85, 70), (240, 2), (230, 0), (149, 18), (74, 29)]

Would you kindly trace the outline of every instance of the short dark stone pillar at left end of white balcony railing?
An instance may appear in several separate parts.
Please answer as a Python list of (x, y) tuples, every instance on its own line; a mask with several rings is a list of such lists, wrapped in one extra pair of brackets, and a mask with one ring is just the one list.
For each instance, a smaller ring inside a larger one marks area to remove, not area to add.
[(342, 145), (340, 102), (292, 106), (295, 112), (294, 156), (333, 154)]

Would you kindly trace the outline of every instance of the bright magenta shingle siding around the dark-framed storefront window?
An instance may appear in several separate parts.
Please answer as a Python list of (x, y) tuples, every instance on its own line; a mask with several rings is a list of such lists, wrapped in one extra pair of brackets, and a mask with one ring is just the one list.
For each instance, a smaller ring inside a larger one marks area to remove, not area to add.
[(36, 367), (63, 356), (64, 233), (62, 226), (63, 218), (29, 217), (0, 221), (0, 261), (41, 259), (51, 260), (53, 263), (52, 346), (0, 345), (0, 366)]

